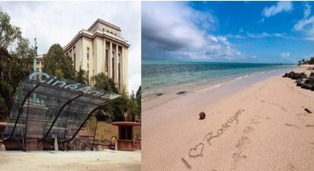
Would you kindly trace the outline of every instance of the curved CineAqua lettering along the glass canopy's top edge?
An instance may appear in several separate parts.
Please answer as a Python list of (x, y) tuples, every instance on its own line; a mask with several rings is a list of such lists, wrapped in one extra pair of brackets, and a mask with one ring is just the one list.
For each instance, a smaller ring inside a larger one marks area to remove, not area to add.
[(41, 72), (32, 73), (31, 75), (29, 75), (29, 80), (43, 82), (45, 84), (50, 84), (52, 86), (63, 88), (63, 89), (71, 89), (72, 91), (80, 91), (92, 97), (94, 96), (94, 97), (105, 98), (105, 99), (113, 99), (120, 96), (118, 94), (111, 94), (108, 92), (99, 91), (85, 84), (81, 84), (81, 83), (73, 84), (73, 82), (69, 83), (69, 82), (66, 82), (66, 80), (60, 81), (60, 80), (57, 80), (57, 77), (48, 75), (47, 73), (41, 73)]

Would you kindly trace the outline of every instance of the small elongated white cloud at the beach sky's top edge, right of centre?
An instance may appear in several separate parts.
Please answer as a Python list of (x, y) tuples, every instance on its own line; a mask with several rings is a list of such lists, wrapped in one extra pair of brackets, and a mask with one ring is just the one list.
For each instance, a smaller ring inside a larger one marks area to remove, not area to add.
[(263, 9), (262, 15), (264, 17), (271, 17), (281, 12), (290, 12), (293, 10), (293, 5), (291, 1), (279, 1), (276, 5), (271, 7), (265, 7)]

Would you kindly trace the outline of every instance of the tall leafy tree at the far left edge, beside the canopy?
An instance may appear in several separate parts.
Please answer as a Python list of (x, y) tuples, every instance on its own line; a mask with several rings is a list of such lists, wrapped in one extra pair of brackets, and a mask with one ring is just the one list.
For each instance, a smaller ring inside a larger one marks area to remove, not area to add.
[[(10, 48), (10, 52), (9, 49)], [(33, 68), (34, 50), (0, 9), (0, 120), (6, 120), (17, 87)]]

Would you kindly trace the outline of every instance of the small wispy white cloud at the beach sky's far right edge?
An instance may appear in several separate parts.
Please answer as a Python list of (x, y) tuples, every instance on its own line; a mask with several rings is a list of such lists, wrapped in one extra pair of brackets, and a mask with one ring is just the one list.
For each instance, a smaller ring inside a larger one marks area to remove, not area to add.
[(308, 3), (304, 6), (304, 17), (294, 24), (294, 31), (300, 31), (305, 35), (306, 40), (314, 40), (314, 16), (310, 16), (311, 6)]

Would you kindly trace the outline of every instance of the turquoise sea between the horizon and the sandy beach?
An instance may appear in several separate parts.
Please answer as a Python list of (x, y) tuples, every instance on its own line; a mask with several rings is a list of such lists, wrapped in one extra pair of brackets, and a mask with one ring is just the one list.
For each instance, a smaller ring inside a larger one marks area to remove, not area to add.
[[(285, 73), (295, 64), (249, 64), (227, 62), (142, 61), (143, 101), (148, 96), (178, 91), (201, 91), (248, 77)], [(258, 80), (258, 79), (257, 79)]]

